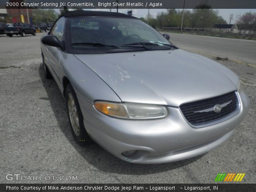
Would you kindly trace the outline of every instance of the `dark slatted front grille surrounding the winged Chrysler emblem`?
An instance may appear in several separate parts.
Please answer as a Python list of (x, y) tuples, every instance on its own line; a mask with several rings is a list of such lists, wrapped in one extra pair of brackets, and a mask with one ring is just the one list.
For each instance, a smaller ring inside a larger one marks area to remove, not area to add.
[[(230, 102), (231, 101), (231, 102)], [(220, 112), (198, 112), (213, 108), (216, 104), (225, 104), (230, 102), (227, 106), (223, 107)], [(236, 92), (227, 93), (214, 98), (204, 99), (196, 102), (182, 104), (180, 110), (184, 117), (190, 124), (199, 125), (218, 120), (228, 116), (237, 108)]]

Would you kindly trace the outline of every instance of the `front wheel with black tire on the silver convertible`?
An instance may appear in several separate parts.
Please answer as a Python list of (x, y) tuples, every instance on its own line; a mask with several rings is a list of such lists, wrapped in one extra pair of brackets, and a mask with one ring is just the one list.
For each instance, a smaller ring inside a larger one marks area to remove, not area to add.
[(71, 84), (68, 84), (66, 87), (65, 98), (66, 107), (68, 110), (68, 120), (75, 141), (81, 146), (92, 143), (92, 139), (84, 128), (84, 118), (76, 97), (76, 93)]

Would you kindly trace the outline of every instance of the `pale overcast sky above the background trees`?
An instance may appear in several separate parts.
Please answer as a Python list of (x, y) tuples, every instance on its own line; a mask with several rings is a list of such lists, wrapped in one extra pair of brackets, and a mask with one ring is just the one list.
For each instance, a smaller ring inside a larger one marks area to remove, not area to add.
[[(109, 11), (109, 9), (95, 9), (96, 11)], [(166, 12), (166, 9), (150, 9), (150, 14), (156, 18), (157, 14), (160, 12)], [(229, 23), (229, 16), (230, 14), (234, 14), (233, 20), (231, 21), (231, 24), (234, 24), (237, 20), (237, 17), (239, 15), (242, 15), (246, 12), (256, 12), (256, 9), (218, 9), (219, 15), (226, 20), (226, 22)], [(112, 12), (116, 12), (116, 9), (112, 9)], [(127, 13), (127, 9), (118, 9), (118, 12), (121, 13)], [(148, 9), (132, 9), (132, 14), (135, 17), (144, 17), (146, 18), (148, 15)]]

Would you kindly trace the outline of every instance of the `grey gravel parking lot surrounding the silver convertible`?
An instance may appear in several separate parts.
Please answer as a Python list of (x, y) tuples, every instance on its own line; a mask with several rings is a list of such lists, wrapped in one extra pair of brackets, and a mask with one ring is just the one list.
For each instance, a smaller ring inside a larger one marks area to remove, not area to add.
[[(64, 98), (54, 80), (44, 78), (43, 34), (0, 36), (0, 183), (214, 183), (218, 173), (245, 173), (242, 183), (256, 183), (256, 65), (221, 62), (240, 76), (251, 102), (226, 143), (180, 162), (130, 164), (97, 144), (74, 142)], [(6, 180), (6, 174), (77, 180)]]

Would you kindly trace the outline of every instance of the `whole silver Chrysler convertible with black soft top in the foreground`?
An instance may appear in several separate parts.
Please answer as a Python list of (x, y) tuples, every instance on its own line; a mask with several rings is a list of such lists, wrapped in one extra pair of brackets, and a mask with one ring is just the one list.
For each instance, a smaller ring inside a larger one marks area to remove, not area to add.
[(120, 13), (56, 20), (41, 38), (44, 73), (66, 100), (76, 142), (154, 164), (207, 153), (232, 136), (249, 108), (238, 76), (169, 38)]

